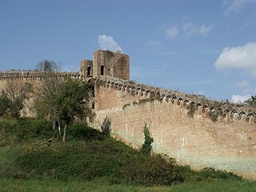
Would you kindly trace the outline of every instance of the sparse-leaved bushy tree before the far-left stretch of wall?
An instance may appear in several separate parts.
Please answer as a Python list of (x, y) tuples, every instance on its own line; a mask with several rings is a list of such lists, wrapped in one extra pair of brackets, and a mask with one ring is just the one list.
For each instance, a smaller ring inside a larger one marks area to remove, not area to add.
[(32, 90), (32, 85), (27, 82), (8, 81), (6, 83), (6, 96), (8, 107), (14, 118), (19, 118), (23, 102)]

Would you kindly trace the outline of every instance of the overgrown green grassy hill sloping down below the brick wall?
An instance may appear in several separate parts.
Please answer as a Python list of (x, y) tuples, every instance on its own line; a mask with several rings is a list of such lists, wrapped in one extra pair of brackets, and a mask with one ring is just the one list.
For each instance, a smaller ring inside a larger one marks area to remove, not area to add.
[(50, 122), (0, 118), (0, 191), (256, 191), (224, 170), (145, 155), (82, 124), (66, 145)]

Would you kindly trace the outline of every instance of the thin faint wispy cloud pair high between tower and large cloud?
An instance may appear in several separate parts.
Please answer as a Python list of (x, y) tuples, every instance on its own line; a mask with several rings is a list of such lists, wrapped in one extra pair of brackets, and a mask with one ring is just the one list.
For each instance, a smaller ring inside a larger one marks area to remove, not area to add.
[(182, 30), (184, 31), (185, 34), (189, 36), (194, 34), (206, 35), (209, 34), (211, 30), (214, 30), (214, 26), (197, 26), (194, 25), (193, 22), (187, 22), (182, 26)]

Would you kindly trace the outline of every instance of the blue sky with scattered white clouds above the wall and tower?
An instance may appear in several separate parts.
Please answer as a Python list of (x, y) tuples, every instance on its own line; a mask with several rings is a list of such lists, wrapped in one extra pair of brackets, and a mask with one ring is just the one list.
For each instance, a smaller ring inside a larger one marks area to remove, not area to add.
[(0, 70), (76, 71), (98, 49), (129, 54), (136, 82), (243, 101), (256, 94), (256, 0), (0, 0)]

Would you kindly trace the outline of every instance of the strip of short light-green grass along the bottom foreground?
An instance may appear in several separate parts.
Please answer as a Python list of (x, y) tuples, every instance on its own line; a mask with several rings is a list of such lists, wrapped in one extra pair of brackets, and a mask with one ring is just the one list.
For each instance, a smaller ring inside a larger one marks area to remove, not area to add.
[(213, 179), (207, 182), (183, 182), (174, 186), (110, 185), (104, 179), (94, 181), (0, 179), (1, 191), (170, 191), (170, 192), (255, 192), (256, 182)]

